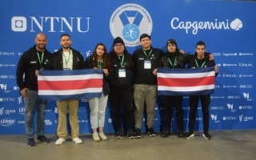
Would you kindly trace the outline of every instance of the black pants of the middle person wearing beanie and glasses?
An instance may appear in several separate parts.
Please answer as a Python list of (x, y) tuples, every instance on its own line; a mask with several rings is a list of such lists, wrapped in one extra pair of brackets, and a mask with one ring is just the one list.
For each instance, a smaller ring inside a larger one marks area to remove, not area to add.
[[(134, 114), (132, 108), (133, 96), (131, 88), (127, 90), (116, 90), (111, 88), (110, 90), (109, 98), (114, 130), (117, 132), (118, 129), (122, 128), (122, 119), (126, 122), (126, 129), (132, 129), (134, 123)], [(124, 114), (125, 118), (122, 118), (122, 113)]]

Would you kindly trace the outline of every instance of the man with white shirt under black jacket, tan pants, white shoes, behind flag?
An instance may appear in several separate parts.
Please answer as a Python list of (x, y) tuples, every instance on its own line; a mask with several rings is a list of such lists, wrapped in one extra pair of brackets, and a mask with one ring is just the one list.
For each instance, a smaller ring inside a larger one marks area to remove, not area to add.
[[(82, 54), (78, 50), (71, 48), (71, 39), (69, 34), (62, 34), (60, 37), (62, 49), (53, 54), (51, 59), (51, 70), (82, 70), (85, 69)], [(55, 145), (62, 145), (66, 141), (66, 111), (70, 111), (70, 126), (72, 141), (80, 144), (78, 125), (78, 99), (67, 99), (57, 101), (58, 106), (58, 140)]]

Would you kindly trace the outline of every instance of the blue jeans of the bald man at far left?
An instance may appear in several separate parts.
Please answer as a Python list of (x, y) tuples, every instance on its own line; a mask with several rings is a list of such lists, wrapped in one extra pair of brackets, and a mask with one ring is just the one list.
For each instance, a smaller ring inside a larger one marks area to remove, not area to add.
[(46, 101), (38, 99), (38, 92), (26, 90), (29, 98), (25, 98), (25, 128), (28, 138), (34, 138), (34, 107), (37, 109), (38, 136), (43, 135), (45, 131), (45, 109)]

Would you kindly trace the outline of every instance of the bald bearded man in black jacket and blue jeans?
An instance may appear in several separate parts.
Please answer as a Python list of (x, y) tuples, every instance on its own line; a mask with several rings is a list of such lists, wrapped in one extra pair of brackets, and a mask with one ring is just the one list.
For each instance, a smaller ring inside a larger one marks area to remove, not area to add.
[[(35, 146), (34, 143), (34, 107), (37, 109), (38, 140), (49, 143), (50, 140), (44, 136), (44, 121), (46, 101), (38, 98), (38, 78), (35, 70), (43, 70), (49, 67), (50, 52), (46, 50), (46, 34), (39, 33), (34, 39), (35, 45), (22, 54), (19, 59), (16, 77), (21, 94), (25, 99), (25, 127), (27, 144)], [(25, 79), (23, 79), (23, 74)]]

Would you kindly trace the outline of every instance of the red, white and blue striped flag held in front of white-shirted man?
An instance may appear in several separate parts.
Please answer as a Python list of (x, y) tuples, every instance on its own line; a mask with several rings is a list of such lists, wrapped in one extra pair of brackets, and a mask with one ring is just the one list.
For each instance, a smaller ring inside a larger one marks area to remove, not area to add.
[(53, 101), (101, 97), (102, 84), (102, 70), (41, 70), (38, 96)]

